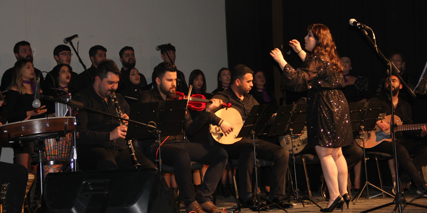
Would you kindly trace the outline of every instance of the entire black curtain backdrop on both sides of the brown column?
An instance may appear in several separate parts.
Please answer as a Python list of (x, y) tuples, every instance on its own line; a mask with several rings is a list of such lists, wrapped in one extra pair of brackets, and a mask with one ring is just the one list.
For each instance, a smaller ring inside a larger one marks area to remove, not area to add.
[[(283, 2), (283, 41), (297, 39), (304, 46), (307, 26), (322, 23), (331, 30), (341, 56), (353, 61), (352, 75), (366, 76), (374, 94), (379, 79), (386, 75), (373, 48), (361, 31), (348, 24), (350, 18), (366, 24), (375, 32), (377, 46), (388, 58), (400, 52), (406, 59), (406, 71), (418, 82), (427, 61), (427, 25), (424, 14), (427, 1), (402, 0), (318, 0)], [(261, 69), (273, 85), (273, 66), (269, 55), (273, 46), (271, 0), (225, 0), (229, 67), (245, 64), (252, 70)], [(295, 53), (285, 55), (295, 67), (301, 61)], [(277, 87), (279, 85), (276, 85)], [(417, 97), (412, 106), (414, 122), (426, 122), (426, 95)]]

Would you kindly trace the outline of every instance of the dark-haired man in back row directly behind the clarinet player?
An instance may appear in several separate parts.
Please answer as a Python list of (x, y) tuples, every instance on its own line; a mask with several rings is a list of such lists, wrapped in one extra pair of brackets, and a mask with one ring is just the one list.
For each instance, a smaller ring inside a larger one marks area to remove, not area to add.
[(89, 58), (92, 61), (92, 65), (89, 69), (79, 74), (79, 82), (82, 89), (86, 89), (94, 82), (99, 62), (107, 58), (107, 49), (100, 45), (92, 46), (89, 49)]

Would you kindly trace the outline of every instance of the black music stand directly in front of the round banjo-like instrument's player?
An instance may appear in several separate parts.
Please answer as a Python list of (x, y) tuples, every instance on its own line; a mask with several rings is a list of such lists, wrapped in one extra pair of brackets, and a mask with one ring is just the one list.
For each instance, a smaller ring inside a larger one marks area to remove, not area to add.
[[(243, 124), (242, 129), (240, 130), (239, 134), (237, 135), (237, 138), (239, 137), (252, 137), (253, 142), (253, 149), (254, 149), (254, 169), (255, 169), (255, 189), (256, 193), (249, 198), (248, 201), (252, 200), (252, 198), (255, 198), (256, 200), (256, 207), (258, 209), (258, 213), (262, 209), (269, 208), (270, 205), (265, 206), (263, 208), (260, 207), (260, 201), (259, 199), (262, 198), (263, 200), (269, 201), (270, 203), (273, 203), (273, 205), (279, 207), (279, 209), (282, 209), (283, 211), (287, 212), (285, 209), (281, 208), (279, 205), (274, 203), (273, 201), (269, 200), (268, 198), (265, 198), (261, 193), (258, 192), (258, 169), (257, 169), (257, 159), (256, 159), (256, 144), (255, 144), (255, 135), (263, 135), (263, 132), (265, 128), (267, 127), (268, 121), (270, 120), (273, 113), (276, 111), (277, 106), (274, 105), (255, 105), (252, 106), (249, 114), (246, 116), (246, 120)], [(246, 202), (248, 202), (246, 201)], [(246, 204), (246, 203), (243, 203)], [(241, 212), (240, 207), (242, 204), (237, 202), (237, 208), (232, 211), (232, 213)]]

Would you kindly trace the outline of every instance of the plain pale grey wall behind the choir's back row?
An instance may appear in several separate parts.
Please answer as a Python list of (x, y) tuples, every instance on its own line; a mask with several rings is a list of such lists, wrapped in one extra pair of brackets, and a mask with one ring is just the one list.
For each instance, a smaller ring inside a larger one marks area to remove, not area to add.
[[(132, 46), (136, 68), (148, 83), (162, 62), (155, 46), (165, 43), (177, 48), (176, 65), (187, 81), (194, 69), (205, 73), (207, 91), (215, 89), (218, 70), (227, 66), (224, 0), (13, 0), (0, 1), (0, 76), (16, 62), (13, 47), (18, 41), (30, 42), (34, 66), (50, 71), (56, 65), (53, 48), (73, 34), (80, 37), (87, 68), (91, 46), (107, 48), (107, 58), (119, 68), (119, 50)], [(73, 54), (73, 71), (81, 73)], [(3, 149), (0, 160), (10, 162), (11, 153)]]

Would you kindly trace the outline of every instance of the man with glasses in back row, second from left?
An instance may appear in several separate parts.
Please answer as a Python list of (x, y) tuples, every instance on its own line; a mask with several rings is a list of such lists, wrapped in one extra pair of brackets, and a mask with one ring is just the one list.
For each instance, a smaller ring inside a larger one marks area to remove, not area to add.
[[(57, 65), (58, 64), (70, 65), (72, 56), (73, 54), (71, 53), (71, 49), (69, 46), (58, 45), (53, 49), (53, 58), (55, 59)], [(49, 72), (49, 74), (52, 75), (53, 72), (54, 71), (52, 70)], [(70, 78), (70, 83), (68, 83), (68, 85), (73, 90), (79, 90), (80, 89), (79, 74), (73, 71), (70, 71), (70, 74), (71, 74), (71, 78)], [(46, 85), (48, 87), (53, 88), (52, 79), (50, 78), (50, 76), (46, 76)]]

